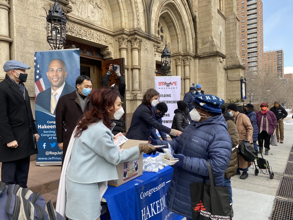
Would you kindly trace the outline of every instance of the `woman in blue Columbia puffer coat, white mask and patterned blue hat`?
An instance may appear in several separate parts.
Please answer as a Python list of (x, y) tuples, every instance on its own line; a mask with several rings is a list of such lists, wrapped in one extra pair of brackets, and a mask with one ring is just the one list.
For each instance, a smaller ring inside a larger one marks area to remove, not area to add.
[[(179, 138), (168, 141), (179, 161), (167, 191), (167, 207), (172, 212), (192, 219), (190, 183), (209, 182), (206, 160), (209, 160), (216, 185), (224, 186), (232, 150), (227, 124), (221, 107), (224, 100), (212, 95), (196, 95), (190, 111), (195, 122), (188, 125)], [(151, 144), (166, 145), (167, 141), (150, 138)]]

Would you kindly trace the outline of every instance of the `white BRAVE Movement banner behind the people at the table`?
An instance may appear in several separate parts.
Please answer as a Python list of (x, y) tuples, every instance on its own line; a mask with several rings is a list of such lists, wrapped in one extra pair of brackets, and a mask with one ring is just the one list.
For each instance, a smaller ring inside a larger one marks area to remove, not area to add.
[(160, 93), (159, 102), (165, 102), (168, 106), (168, 112), (162, 118), (163, 125), (171, 128), (174, 110), (177, 109), (177, 102), (181, 99), (181, 77), (156, 76), (155, 89)]

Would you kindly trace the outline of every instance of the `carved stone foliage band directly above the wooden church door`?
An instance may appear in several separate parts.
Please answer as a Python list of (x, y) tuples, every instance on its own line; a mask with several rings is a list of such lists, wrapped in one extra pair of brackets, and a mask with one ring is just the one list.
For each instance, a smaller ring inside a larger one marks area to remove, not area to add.
[(67, 22), (67, 30), (70, 35), (113, 47), (113, 37), (110, 35), (106, 35), (89, 28), (84, 28), (70, 22)]

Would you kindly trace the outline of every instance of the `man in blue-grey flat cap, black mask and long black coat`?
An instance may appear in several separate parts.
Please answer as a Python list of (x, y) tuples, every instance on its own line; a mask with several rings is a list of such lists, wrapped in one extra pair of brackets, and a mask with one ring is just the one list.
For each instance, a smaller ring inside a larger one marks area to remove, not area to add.
[(1, 181), (27, 188), (30, 155), (38, 153), (38, 130), (24, 86), (28, 65), (9, 60), (3, 66), (5, 79), (0, 82), (0, 162)]

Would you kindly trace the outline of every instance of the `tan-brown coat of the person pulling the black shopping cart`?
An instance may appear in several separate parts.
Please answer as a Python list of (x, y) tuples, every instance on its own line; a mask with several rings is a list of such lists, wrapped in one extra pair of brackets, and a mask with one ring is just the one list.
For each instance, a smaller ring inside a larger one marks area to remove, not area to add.
[[(242, 113), (236, 115), (235, 124), (239, 134), (239, 144), (243, 139), (250, 140), (252, 142), (253, 127), (251, 125), (250, 119)], [(247, 162), (241, 155), (238, 156), (238, 167), (246, 169), (249, 165), (251, 166), (253, 162)]]

